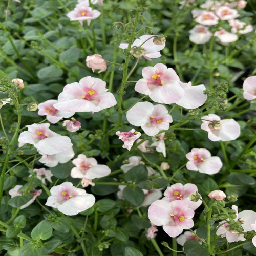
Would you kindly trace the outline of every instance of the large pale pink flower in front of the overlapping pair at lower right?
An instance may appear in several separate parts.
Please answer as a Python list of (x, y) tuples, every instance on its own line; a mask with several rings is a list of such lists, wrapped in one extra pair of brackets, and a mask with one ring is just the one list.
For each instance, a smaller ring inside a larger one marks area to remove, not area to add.
[(182, 200), (170, 203), (157, 200), (148, 209), (150, 221), (156, 226), (163, 226), (163, 230), (172, 238), (179, 236), (183, 229), (194, 226), (194, 214), (194, 210), (188, 208), (187, 202)]

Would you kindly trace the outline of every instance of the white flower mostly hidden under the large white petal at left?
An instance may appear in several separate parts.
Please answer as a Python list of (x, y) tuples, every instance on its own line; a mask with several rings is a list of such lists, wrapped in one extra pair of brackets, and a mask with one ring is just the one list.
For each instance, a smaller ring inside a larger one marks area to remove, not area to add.
[(75, 153), (72, 147), (58, 154), (47, 155), (40, 151), (39, 151), (39, 154), (41, 154), (42, 157), (38, 161), (40, 163), (44, 163), (48, 167), (55, 167), (58, 165), (58, 163), (67, 163), (69, 160), (71, 160), (75, 156)]

